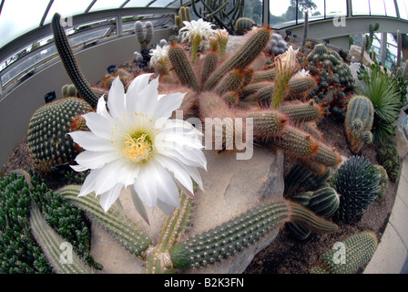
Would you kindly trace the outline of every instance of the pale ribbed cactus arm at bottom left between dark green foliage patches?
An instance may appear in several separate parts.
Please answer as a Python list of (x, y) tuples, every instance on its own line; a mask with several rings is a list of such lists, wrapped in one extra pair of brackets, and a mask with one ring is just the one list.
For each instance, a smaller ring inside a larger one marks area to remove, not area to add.
[[(46, 255), (50, 266), (56, 274), (91, 274), (93, 270), (84, 264), (80, 257), (71, 250), (71, 254), (67, 254), (66, 263), (61, 261), (61, 255), (64, 249), (61, 249), (66, 240), (56, 234), (50, 225), (46, 223), (44, 215), (33, 203), (30, 215), (30, 225), (36, 242), (40, 245), (43, 253)], [(72, 255), (72, 258), (70, 257)], [(72, 261), (71, 261), (72, 260)]]

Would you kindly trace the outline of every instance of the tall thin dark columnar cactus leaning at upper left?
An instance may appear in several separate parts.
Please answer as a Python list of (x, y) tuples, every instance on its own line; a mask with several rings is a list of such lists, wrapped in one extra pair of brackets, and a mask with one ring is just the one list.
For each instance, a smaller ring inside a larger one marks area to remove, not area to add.
[(66, 68), (66, 73), (68, 74), (72, 83), (74, 83), (81, 98), (85, 99), (93, 109), (96, 109), (97, 96), (90, 89), (87, 80), (83, 77), (77, 66), (76, 58), (71, 47), (69, 46), (64, 27), (61, 26), (60, 20), (61, 16), (56, 13), (51, 22), (54, 33), (54, 43), (56, 44), (59, 57), (61, 57), (61, 61)]

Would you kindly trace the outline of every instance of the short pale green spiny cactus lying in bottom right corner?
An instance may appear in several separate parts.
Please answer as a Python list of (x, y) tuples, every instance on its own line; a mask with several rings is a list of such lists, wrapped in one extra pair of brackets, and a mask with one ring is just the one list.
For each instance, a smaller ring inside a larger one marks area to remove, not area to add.
[(353, 274), (371, 260), (377, 245), (372, 231), (351, 235), (323, 253), (311, 274)]

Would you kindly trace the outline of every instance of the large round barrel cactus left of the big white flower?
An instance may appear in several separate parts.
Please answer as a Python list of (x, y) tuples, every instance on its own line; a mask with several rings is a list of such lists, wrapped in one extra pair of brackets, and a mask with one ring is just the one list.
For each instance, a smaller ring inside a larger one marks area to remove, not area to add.
[(40, 172), (50, 172), (53, 166), (73, 162), (80, 148), (67, 135), (76, 117), (92, 108), (83, 99), (56, 99), (33, 114), (29, 121), (27, 142), (30, 157)]

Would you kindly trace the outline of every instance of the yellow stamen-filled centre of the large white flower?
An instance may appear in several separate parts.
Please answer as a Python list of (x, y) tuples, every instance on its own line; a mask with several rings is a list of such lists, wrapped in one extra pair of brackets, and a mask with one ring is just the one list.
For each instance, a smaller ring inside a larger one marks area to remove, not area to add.
[(134, 163), (146, 162), (153, 152), (153, 143), (148, 134), (126, 135), (122, 152), (126, 159)]

